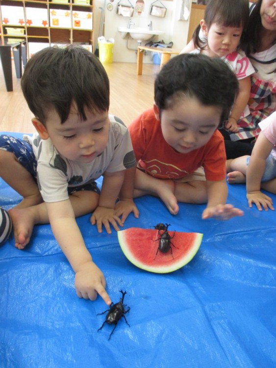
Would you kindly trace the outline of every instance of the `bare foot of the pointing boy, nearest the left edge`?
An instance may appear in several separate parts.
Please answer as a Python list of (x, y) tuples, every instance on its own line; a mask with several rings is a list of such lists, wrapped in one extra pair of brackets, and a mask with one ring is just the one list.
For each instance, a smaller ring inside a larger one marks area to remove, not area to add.
[(18, 249), (24, 249), (30, 241), (32, 229), (34, 226), (34, 217), (32, 210), (13, 208), (9, 210), (11, 216), (15, 247)]

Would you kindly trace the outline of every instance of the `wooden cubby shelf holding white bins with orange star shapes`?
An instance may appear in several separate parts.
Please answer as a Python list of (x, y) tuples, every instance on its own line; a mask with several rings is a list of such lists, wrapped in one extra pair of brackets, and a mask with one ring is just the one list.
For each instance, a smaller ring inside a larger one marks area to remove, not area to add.
[(0, 0), (0, 37), (25, 38), (28, 58), (53, 44), (93, 52), (93, 1)]

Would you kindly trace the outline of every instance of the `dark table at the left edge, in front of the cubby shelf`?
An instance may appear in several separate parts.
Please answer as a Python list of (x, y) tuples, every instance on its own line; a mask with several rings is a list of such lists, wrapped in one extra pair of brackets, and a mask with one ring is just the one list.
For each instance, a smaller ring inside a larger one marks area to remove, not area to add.
[(0, 43), (0, 59), (3, 68), (3, 75), (8, 92), (13, 90), (12, 85), (12, 64), (11, 50), (15, 64), (16, 77), (22, 77), (22, 64), (25, 67), (27, 62), (26, 40), (21, 38), (4, 38)]

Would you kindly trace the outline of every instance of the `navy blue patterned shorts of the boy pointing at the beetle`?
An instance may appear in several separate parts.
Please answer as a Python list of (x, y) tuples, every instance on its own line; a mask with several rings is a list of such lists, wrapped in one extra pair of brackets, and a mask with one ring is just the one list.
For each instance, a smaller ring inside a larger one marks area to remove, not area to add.
[[(25, 167), (25, 169), (32, 175), (35, 182), (37, 182), (37, 159), (29, 142), (8, 134), (1, 134), (0, 149), (13, 153), (18, 159), (18, 162)], [(100, 194), (100, 189), (98, 188), (96, 182), (68, 187), (69, 194), (73, 194), (80, 190), (89, 190)]]

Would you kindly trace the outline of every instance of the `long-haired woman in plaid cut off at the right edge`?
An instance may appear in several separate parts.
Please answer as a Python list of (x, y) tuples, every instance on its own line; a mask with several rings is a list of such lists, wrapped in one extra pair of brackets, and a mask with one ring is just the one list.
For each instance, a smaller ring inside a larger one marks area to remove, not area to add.
[[(241, 38), (241, 48), (255, 73), (251, 76), (248, 113), (238, 122), (239, 131), (225, 136), (227, 158), (251, 155), (251, 142), (258, 136), (258, 123), (276, 110), (276, 1), (258, 0), (251, 6), (249, 24)], [(190, 52), (189, 43), (181, 53)]]

